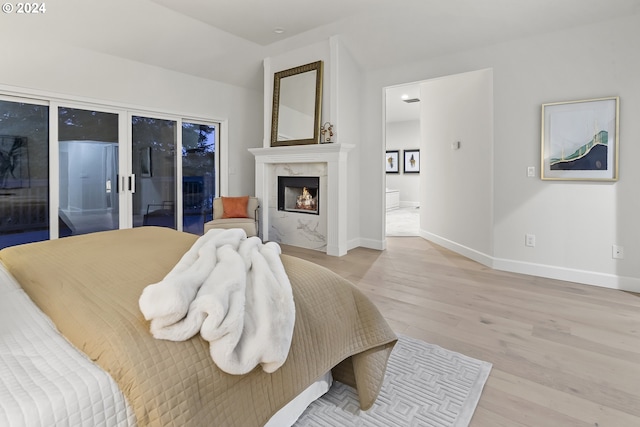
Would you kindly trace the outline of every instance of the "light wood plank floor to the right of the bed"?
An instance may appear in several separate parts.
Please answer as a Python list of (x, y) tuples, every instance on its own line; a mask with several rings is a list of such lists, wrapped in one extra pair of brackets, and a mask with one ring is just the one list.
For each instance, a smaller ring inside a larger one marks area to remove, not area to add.
[(640, 426), (638, 295), (387, 243), (339, 258), (282, 248), (349, 279), (397, 333), (493, 363), (471, 426)]

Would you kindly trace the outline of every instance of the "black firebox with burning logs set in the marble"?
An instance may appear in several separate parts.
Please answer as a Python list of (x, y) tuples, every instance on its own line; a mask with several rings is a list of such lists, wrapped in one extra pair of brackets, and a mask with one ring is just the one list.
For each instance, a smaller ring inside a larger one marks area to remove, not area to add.
[(279, 176), (278, 210), (320, 214), (320, 178), (314, 176)]

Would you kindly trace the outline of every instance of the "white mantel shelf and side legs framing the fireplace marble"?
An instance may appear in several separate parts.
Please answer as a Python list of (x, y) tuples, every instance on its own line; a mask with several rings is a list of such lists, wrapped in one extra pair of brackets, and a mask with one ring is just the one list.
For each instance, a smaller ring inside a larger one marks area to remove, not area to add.
[[(322, 197), (327, 212), (327, 255), (347, 253), (347, 156), (353, 147), (353, 144), (332, 143), (249, 149), (256, 159), (256, 196), (261, 203), (269, 203), (277, 192), (277, 182), (273, 182), (277, 178), (271, 173), (276, 165), (326, 164), (327, 191)], [(272, 206), (260, 209), (260, 231), (264, 241), (269, 240), (270, 208)]]

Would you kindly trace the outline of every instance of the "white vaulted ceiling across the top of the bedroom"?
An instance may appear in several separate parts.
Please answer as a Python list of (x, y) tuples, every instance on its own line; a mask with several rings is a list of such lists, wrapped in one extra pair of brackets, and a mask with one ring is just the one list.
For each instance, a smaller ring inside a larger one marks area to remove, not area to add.
[(371, 70), (637, 13), (640, 0), (59, 0), (0, 34), (259, 89), (265, 57), (333, 35)]

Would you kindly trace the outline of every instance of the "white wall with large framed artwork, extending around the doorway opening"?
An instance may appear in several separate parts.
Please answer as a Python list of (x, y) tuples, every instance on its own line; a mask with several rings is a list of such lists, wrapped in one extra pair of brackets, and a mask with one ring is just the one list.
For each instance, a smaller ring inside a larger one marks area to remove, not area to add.
[[(468, 249), (501, 269), (640, 290), (640, 168), (633, 163), (640, 156), (635, 144), (640, 121), (634, 119), (640, 117), (639, 39), (640, 16), (635, 15), (601, 22), (597, 31), (593, 26), (568, 29), (368, 73), (361, 181), (379, 181), (384, 173), (379, 160), (385, 148), (384, 87), (492, 69), (494, 154), (485, 167), (492, 170), (494, 184), (481, 191), (493, 197), (493, 224), (488, 241), (474, 241)], [(621, 103), (619, 182), (541, 181), (541, 104), (614, 95)], [(528, 166), (536, 167), (536, 178), (527, 177)], [(384, 188), (363, 189), (362, 197), (377, 208), (362, 217), (361, 234), (382, 242)], [(474, 212), (466, 212), (463, 220), (473, 221)], [(535, 248), (524, 246), (525, 233), (536, 235)], [(624, 260), (612, 259), (614, 243), (624, 246)]]

